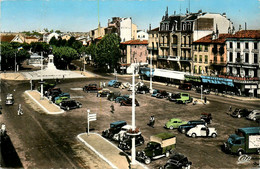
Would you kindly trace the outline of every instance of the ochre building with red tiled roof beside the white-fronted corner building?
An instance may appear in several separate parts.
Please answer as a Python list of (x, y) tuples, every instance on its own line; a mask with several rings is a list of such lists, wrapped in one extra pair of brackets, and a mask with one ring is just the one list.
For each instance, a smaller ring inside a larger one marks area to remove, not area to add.
[[(218, 31), (216, 31), (218, 32)], [(210, 34), (193, 42), (193, 73), (199, 75), (219, 75), (226, 73), (227, 37), (232, 34)]]

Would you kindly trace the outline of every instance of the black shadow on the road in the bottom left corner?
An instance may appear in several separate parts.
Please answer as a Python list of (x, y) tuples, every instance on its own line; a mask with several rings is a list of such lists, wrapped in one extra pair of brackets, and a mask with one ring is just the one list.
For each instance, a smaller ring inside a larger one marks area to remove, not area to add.
[(15, 151), (13, 143), (8, 135), (1, 136), (1, 167), (23, 168), (20, 158)]

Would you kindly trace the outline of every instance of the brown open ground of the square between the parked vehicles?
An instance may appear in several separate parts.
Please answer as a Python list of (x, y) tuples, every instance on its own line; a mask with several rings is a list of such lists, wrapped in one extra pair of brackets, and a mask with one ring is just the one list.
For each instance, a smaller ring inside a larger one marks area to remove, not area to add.
[[(130, 78), (129, 78), (130, 79)], [(59, 84), (64, 92), (69, 92), (72, 97), (82, 103), (82, 108), (70, 110), (66, 113), (69, 116), (77, 117), (80, 120), (87, 119), (87, 109), (91, 113), (97, 113), (97, 121), (91, 122), (90, 128), (94, 129), (94, 132), (99, 134), (109, 127), (111, 122), (125, 120), (128, 124), (131, 124), (131, 106), (120, 106), (120, 104), (108, 101), (106, 97), (97, 97), (96, 93), (86, 93), (83, 90), (72, 90), (73, 88), (81, 88), (90, 83), (99, 84), (100, 81), (108, 80), (103, 79), (90, 79), (80, 82), (69, 82)], [(123, 80), (122, 80), (123, 81)], [(169, 92), (179, 91), (171, 87), (165, 88), (165, 86), (154, 86), (158, 89), (162, 88)], [(118, 89), (109, 87), (112, 91), (120, 91), (122, 94), (131, 94), (131, 91), (126, 89)], [(194, 91), (191, 91), (191, 96), (199, 98), (199, 95)], [(226, 114), (229, 106), (259, 109), (259, 102), (250, 103), (248, 101), (238, 101), (221, 96), (207, 96), (210, 104), (176, 104), (169, 102), (166, 99), (158, 99), (151, 97), (147, 94), (137, 94), (136, 99), (140, 103), (140, 106), (136, 107), (136, 126), (140, 128), (142, 135), (145, 139), (145, 144), (137, 147), (138, 150), (144, 149), (146, 143), (149, 141), (151, 135), (155, 135), (162, 132), (174, 133), (177, 137), (176, 152), (182, 153), (192, 161), (192, 167), (194, 168), (244, 168), (246, 166), (255, 167), (254, 162), (259, 162), (257, 159), (252, 159), (249, 163), (237, 164), (238, 156), (225, 154), (221, 150), (223, 142), (228, 139), (230, 134), (235, 133), (237, 128), (259, 126), (254, 121), (246, 120), (245, 118), (233, 118)], [(248, 102), (248, 104), (247, 104)], [(114, 113), (110, 112), (110, 106), (113, 103)], [(163, 126), (171, 118), (179, 118), (184, 121), (199, 120), (201, 113), (211, 113), (213, 120), (209, 127), (214, 127), (217, 130), (216, 138), (190, 138), (184, 134), (179, 133), (176, 129), (169, 130)], [(151, 128), (147, 125), (150, 116), (154, 115), (155, 125)], [(118, 143), (112, 141), (115, 145)], [(257, 157), (257, 156), (256, 156)], [(168, 158), (161, 158), (152, 161), (148, 165), (149, 168), (158, 168), (166, 163)]]

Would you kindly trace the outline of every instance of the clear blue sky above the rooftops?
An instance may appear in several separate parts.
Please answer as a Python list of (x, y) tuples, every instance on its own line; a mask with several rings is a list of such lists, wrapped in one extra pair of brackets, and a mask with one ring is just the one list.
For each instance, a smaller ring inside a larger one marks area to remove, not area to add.
[(236, 30), (260, 29), (260, 0), (0, 0), (0, 31), (70, 32), (106, 27), (112, 17), (131, 17), (138, 29), (159, 26), (168, 6), (169, 15), (191, 12), (226, 13)]

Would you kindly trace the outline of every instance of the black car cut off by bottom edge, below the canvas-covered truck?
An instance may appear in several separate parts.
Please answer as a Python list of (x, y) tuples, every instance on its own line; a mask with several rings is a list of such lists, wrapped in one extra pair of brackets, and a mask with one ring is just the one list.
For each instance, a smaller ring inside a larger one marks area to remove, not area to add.
[(160, 169), (189, 169), (192, 165), (192, 162), (188, 160), (183, 154), (174, 154), (170, 157), (167, 163), (160, 167)]

